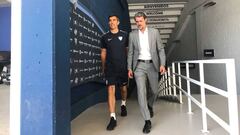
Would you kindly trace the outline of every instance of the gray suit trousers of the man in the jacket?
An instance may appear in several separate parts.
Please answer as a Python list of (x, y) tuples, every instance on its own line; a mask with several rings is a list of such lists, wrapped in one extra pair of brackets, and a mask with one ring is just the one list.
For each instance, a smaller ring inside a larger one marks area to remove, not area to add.
[[(150, 120), (148, 105), (153, 106), (158, 92), (158, 72), (153, 63), (138, 62), (134, 76), (137, 84), (138, 103), (144, 120)], [(150, 88), (148, 88), (150, 86)], [(147, 96), (147, 93), (150, 93)]]

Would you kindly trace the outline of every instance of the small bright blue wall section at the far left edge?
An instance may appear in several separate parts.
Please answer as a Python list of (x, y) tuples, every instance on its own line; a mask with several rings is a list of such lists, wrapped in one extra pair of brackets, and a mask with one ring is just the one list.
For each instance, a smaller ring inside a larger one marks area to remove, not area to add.
[(11, 48), (11, 7), (0, 7), (0, 51)]

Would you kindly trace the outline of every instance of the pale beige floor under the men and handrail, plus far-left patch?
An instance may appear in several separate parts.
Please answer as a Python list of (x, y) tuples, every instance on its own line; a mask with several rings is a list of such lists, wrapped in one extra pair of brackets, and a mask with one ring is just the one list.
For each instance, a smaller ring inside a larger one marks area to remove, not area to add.
[[(195, 96), (199, 99), (199, 95)], [(193, 114), (188, 114), (187, 99), (183, 104), (157, 100), (154, 105), (152, 131), (149, 135), (202, 135), (201, 110), (193, 104)], [(208, 107), (224, 120), (228, 120), (226, 99), (207, 96)], [(106, 103), (88, 108), (71, 122), (72, 135), (142, 135), (144, 120), (135, 98), (127, 101), (128, 116), (120, 117), (120, 103), (117, 102), (117, 127), (106, 131), (109, 122)], [(228, 133), (208, 117), (207, 135), (228, 135)], [(9, 134), (9, 86), (0, 85), (0, 135)]]

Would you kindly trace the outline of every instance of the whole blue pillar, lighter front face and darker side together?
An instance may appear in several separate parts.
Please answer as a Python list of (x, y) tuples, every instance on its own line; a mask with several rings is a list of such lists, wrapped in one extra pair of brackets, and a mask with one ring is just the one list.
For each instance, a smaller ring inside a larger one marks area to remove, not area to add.
[(68, 9), (22, 0), (21, 135), (70, 135)]

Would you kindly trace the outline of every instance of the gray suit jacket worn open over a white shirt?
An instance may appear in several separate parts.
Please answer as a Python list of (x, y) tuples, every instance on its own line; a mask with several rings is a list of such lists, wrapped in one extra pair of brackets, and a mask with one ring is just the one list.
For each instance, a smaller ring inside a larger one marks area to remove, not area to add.
[[(164, 51), (164, 45), (162, 44), (159, 31), (154, 28), (148, 27), (148, 40), (150, 45), (150, 54), (154, 67), (159, 72), (160, 64), (165, 66), (166, 56)], [(134, 71), (137, 66), (137, 60), (139, 57), (139, 34), (138, 30), (134, 30), (129, 34), (128, 44), (128, 69)]]

